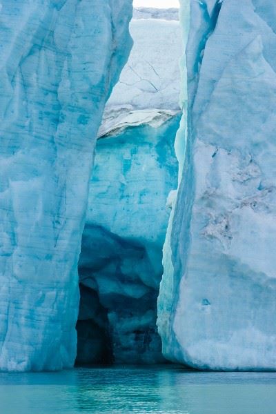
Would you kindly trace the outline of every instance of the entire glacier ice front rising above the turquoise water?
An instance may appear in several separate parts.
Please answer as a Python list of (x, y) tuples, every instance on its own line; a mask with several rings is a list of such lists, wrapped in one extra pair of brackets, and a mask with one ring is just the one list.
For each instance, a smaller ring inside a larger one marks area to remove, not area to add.
[(0, 370), (276, 371), (276, 6), (132, 11), (1, 1)]

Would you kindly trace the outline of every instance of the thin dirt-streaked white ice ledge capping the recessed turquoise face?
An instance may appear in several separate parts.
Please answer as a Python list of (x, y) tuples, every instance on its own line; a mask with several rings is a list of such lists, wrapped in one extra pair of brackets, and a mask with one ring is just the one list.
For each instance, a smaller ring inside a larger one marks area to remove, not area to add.
[(132, 106), (124, 108), (113, 108), (105, 114), (103, 123), (99, 128), (98, 139), (107, 135), (114, 135), (130, 126), (150, 125), (158, 128), (168, 119), (179, 114), (180, 110), (165, 109), (138, 109), (133, 110)]

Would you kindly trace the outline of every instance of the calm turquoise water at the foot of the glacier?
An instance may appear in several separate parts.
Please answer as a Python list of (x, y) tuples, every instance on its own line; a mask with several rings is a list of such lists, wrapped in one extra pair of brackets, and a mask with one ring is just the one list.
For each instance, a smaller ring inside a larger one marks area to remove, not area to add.
[(276, 414), (276, 373), (179, 366), (0, 373), (1, 414)]

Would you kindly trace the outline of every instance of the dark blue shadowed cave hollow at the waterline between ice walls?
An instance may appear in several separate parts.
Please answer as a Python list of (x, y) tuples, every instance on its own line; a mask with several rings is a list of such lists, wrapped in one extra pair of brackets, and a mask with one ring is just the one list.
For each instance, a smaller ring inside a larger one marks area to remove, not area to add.
[(100, 226), (86, 226), (76, 366), (164, 362), (156, 327), (158, 290), (139, 277), (146, 268), (152, 273), (142, 246)]

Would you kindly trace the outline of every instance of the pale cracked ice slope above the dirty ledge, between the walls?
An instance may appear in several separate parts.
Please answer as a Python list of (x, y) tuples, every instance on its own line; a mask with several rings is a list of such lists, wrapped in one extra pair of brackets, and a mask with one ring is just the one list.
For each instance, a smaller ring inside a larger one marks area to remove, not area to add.
[(179, 110), (179, 21), (133, 19), (130, 34), (135, 43), (106, 110), (126, 104), (133, 109)]

